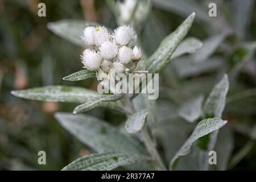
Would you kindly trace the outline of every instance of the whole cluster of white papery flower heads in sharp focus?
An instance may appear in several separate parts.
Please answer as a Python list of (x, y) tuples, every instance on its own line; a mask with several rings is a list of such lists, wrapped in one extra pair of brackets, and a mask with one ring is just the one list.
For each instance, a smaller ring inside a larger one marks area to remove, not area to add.
[[(142, 57), (141, 48), (134, 46), (137, 39), (133, 28), (121, 26), (110, 35), (105, 27), (86, 27), (82, 40), (93, 49), (85, 49), (81, 55), (84, 68), (105, 73), (131, 72)], [(100, 74), (97, 74), (100, 75)]]

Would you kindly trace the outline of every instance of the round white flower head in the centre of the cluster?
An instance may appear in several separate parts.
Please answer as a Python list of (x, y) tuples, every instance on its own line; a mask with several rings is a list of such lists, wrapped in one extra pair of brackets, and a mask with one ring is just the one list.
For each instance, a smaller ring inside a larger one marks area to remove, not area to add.
[(117, 56), (117, 45), (113, 42), (106, 41), (100, 46), (100, 54), (106, 60), (111, 60)]

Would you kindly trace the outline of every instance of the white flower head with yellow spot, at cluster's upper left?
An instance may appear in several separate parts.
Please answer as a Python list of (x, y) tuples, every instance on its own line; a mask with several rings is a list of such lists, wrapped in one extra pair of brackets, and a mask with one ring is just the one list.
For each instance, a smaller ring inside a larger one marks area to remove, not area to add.
[(96, 27), (93, 32), (93, 41), (98, 47), (105, 41), (108, 41), (109, 37), (109, 32), (105, 27)]

